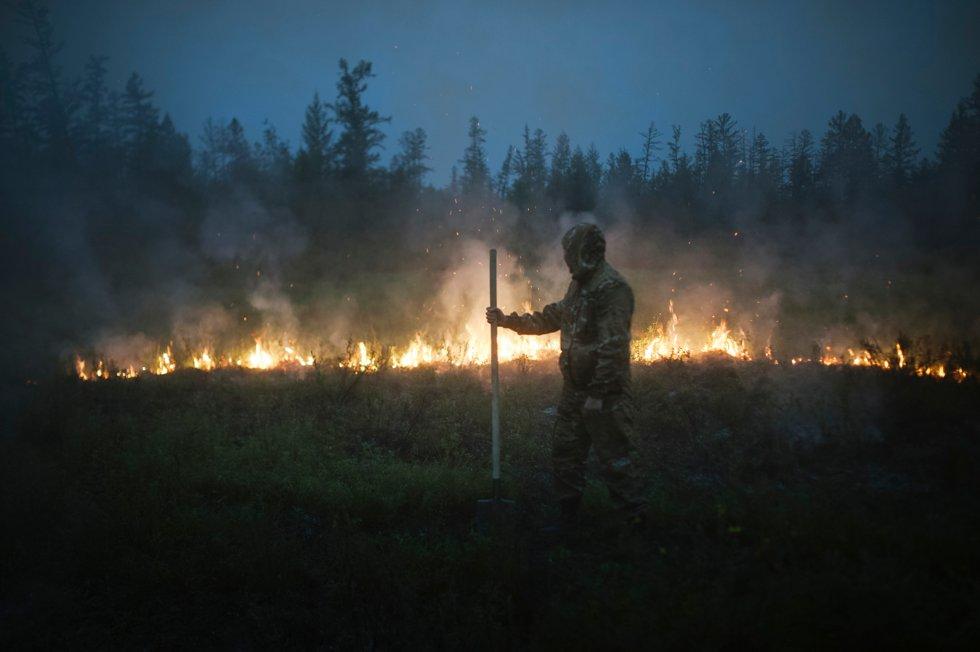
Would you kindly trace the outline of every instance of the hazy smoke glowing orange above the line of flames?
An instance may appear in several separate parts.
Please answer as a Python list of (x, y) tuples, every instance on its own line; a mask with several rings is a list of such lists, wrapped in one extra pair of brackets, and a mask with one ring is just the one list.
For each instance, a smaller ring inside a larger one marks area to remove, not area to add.
[[(30, 334), (9, 368), (43, 373), (38, 359), (63, 367), (76, 353), (138, 367), (169, 347), (186, 358), (259, 339), (330, 356), (350, 340), (485, 338), (488, 250), (498, 250), (498, 304), (541, 309), (565, 293), (560, 241), (579, 222), (604, 229), (607, 259), (634, 289), (637, 333), (676, 320), (696, 344), (724, 323), (754, 356), (903, 336), (928, 335), (934, 347), (980, 340), (975, 271), (920, 252), (907, 224), (868, 208), (837, 221), (743, 210), (736, 226), (705, 230), (625, 206), (615, 219), (528, 215), (430, 194), (400, 207), (403, 221), (378, 218), (383, 227), (367, 238), (266, 203), (237, 188), (211, 197), (198, 219), (158, 201), (38, 201), (22, 234), (29, 267), (50, 269), (31, 282), (56, 289), (39, 299), (19, 288)], [(135, 235), (118, 232), (125, 220)]]

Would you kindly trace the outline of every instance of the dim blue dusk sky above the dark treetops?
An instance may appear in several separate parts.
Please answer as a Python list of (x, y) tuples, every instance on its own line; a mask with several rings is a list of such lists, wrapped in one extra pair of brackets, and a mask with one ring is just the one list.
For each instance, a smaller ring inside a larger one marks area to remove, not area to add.
[[(110, 57), (112, 84), (143, 75), (197, 145), (208, 116), (248, 135), (270, 120), (295, 149), (303, 110), (334, 95), (337, 60), (367, 59), (369, 102), (397, 135), (429, 134), (431, 182), (465, 146), (466, 122), (488, 131), (493, 170), (525, 123), (549, 143), (594, 142), (605, 158), (639, 149), (655, 121), (684, 146), (702, 120), (731, 113), (781, 145), (819, 135), (838, 109), (870, 128), (900, 111), (932, 155), (956, 101), (980, 72), (980, 3), (956, 2), (315, 2), (132, 0), (50, 3), (66, 71)], [(4, 9), (3, 41), (16, 59)]]

